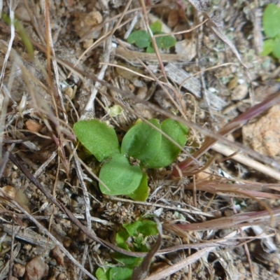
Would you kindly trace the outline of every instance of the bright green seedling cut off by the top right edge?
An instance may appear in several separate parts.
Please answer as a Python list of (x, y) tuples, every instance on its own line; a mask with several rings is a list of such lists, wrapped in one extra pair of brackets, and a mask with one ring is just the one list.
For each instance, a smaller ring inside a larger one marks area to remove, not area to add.
[(263, 31), (267, 39), (263, 42), (260, 55), (272, 54), (280, 59), (280, 7), (271, 3), (267, 5), (262, 16)]

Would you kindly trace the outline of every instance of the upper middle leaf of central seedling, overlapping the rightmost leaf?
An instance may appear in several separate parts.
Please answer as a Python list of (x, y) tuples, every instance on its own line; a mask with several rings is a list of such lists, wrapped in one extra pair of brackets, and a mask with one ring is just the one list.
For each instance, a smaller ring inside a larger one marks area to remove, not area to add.
[[(149, 122), (160, 128), (158, 120), (151, 119)], [(147, 123), (139, 123), (130, 128), (127, 134), (125, 134), (121, 153), (140, 160), (141, 164), (145, 164), (146, 161), (151, 160), (158, 154), (161, 139), (162, 134), (160, 134), (160, 132), (154, 130), (153, 127)]]

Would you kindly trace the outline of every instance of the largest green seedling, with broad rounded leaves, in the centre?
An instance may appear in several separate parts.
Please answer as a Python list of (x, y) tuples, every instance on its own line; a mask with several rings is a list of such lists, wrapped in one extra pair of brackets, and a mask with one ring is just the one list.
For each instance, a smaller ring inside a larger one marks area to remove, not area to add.
[(180, 153), (180, 148), (162, 132), (179, 146), (186, 144), (188, 129), (181, 123), (171, 119), (161, 124), (157, 119), (148, 122), (151, 125), (141, 122), (131, 127), (121, 146), (116, 131), (99, 120), (81, 120), (73, 126), (80, 143), (102, 162), (99, 188), (104, 195), (127, 195), (145, 201), (148, 176), (143, 169), (166, 167)]

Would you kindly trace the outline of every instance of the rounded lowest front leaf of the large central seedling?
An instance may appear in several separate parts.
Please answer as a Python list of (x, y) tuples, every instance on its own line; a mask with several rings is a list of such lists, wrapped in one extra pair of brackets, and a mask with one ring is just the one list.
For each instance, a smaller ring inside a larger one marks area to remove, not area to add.
[(124, 155), (112, 155), (112, 159), (102, 165), (99, 173), (99, 188), (104, 195), (128, 195), (136, 190), (142, 179), (143, 173), (139, 166), (130, 165)]

